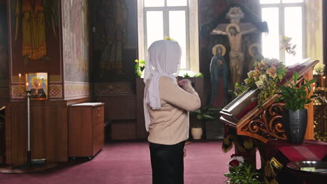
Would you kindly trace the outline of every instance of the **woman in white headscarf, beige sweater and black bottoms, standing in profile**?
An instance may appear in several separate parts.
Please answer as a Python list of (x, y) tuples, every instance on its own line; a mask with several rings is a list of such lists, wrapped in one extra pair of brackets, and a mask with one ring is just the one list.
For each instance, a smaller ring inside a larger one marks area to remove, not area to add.
[(180, 45), (159, 40), (150, 46), (145, 65), (145, 128), (150, 132), (152, 183), (184, 183), (183, 149), (189, 138), (189, 111), (201, 107), (189, 80), (177, 82)]

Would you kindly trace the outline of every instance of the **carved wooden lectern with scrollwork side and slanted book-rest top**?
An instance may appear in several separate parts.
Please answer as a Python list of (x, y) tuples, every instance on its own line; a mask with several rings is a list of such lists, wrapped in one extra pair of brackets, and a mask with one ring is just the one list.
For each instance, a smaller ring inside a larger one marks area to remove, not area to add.
[[(286, 85), (286, 79), (291, 80), (293, 71), (299, 73), (303, 79), (313, 78), (313, 68), (319, 61), (306, 61), (290, 66), (289, 73), (284, 77), (282, 85)], [(259, 89), (247, 90), (238, 98), (235, 98), (230, 104), (221, 110), (220, 121), (235, 129), (236, 135), (244, 135), (258, 139), (266, 143), (269, 139), (286, 139), (284, 125), (282, 123), (282, 102), (275, 102), (277, 95), (269, 98), (259, 109), (256, 104), (256, 96)], [(312, 94), (310, 94), (312, 95)], [(305, 139), (314, 139), (314, 118), (312, 103), (307, 107), (307, 131)]]

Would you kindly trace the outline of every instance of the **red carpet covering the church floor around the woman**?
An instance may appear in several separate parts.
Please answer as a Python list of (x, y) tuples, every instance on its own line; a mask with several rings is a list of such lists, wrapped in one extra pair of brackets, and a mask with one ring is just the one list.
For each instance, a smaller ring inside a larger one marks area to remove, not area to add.
[[(221, 141), (192, 142), (186, 146), (184, 183), (220, 184), (228, 172), (230, 153), (221, 151)], [(152, 183), (150, 151), (146, 142), (106, 144), (89, 162), (69, 162), (36, 174), (0, 174), (0, 183)]]

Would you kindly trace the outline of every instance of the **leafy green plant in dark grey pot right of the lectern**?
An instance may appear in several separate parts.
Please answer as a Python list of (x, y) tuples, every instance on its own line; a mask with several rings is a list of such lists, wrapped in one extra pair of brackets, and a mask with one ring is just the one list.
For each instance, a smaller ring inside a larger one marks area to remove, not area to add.
[(280, 91), (277, 93), (281, 95), (276, 98), (277, 102), (285, 102), (283, 109), (284, 129), (289, 141), (293, 144), (301, 144), (305, 137), (305, 130), (307, 129), (307, 109), (305, 106), (312, 102), (310, 92), (316, 79), (305, 82), (301, 86), (296, 86), (299, 79), (298, 72), (293, 72), (293, 83), (287, 81), (288, 86), (280, 86)]

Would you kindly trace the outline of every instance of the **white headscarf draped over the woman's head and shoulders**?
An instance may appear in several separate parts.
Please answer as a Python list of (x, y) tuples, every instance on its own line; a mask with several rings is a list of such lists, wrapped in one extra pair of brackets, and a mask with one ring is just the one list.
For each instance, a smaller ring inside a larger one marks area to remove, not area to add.
[(159, 78), (161, 76), (170, 77), (176, 82), (178, 72), (180, 72), (180, 57), (182, 49), (175, 41), (158, 40), (147, 49), (147, 60), (145, 61), (144, 82), (150, 80), (147, 91), (144, 91), (144, 116), (145, 128), (149, 131), (151, 123), (147, 105), (152, 109), (160, 109)]

